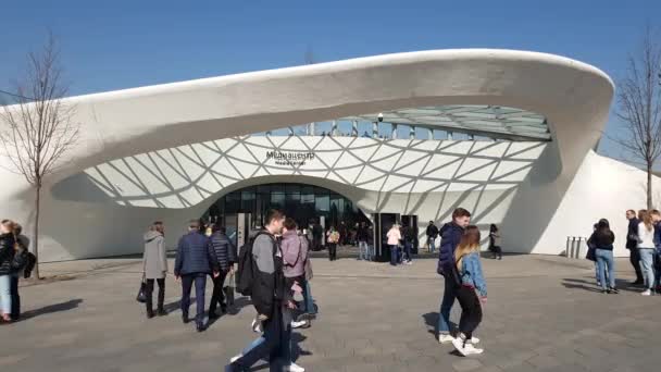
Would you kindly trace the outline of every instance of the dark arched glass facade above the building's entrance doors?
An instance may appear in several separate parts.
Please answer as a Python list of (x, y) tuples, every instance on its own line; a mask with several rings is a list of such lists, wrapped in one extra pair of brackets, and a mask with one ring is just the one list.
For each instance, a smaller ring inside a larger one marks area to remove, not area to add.
[(204, 213), (204, 221), (223, 221), (237, 213), (251, 213), (251, 225), (260, 226), (269, 209), (278, 209), (307, 226), (324, 216), (326, 227), (344, 221), (348, 226), (367, 221), (365, 215), (344, 196), (324, 187), (305, 184), (265, 184), (246, 187), (220, 198)]

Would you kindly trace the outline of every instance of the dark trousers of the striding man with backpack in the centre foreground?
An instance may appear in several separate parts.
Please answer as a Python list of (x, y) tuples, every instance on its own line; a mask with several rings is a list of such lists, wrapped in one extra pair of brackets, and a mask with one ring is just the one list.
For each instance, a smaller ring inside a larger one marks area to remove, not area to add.
[(244, 356), (230, 364), (232, 371), (249, 371), (261, 359), (269, 359), (272, 372), (280, 372), (285, 364), (289, 364), (290, 360), (285, 360), (289, 354), (288, 327), (283, 324), (283, 309), (278, 303), (274, 306), (271, 318), (262, 322), (264, 333), (260, 342), (249, 350), (244, 350)]

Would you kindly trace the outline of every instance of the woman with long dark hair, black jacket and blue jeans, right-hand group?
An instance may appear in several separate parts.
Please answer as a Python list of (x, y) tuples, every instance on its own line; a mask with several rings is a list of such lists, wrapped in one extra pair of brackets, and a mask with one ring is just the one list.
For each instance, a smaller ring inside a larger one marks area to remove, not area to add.
[(588, 241), (595, 247), (595, 258), (597, 259), (597, 270), (599, 272), (598, 282), (601, 284), (601, 292), (604, 294), (616, 294), (615, 261), (613, 259), (615, 234), (611, 231), (608, 220), (599, 220), (597, 228)]

